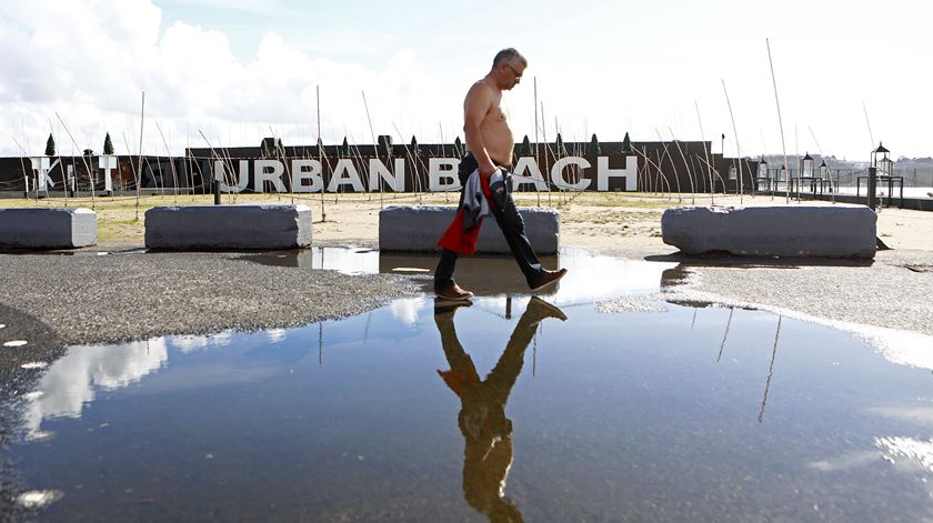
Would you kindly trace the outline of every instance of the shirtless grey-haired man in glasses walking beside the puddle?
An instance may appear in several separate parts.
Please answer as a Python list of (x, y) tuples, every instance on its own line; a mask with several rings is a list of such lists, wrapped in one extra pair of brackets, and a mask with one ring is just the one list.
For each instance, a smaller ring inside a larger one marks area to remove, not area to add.
[[(500, 102), (502, 91), (518, 86), (526, 67), (528, 60), (519, 51), (512, 48), (503, 49), (495, 54), (489, 73), (473, 83), (466, 92), (466, 99), (463, 100), (463, 132), (468, 152), (458, 171), (461, 185), (466, 185), (466, 180), (476, 169), (488, 185), (489, 177), (496, 169), (506, 171), (505, 167), (512, 164), (515, 141)], [(461, 205), (463, 201), (464, 195), (461, 194)], [(549, 271), (541, 266), (525, 235), (524, 222), (511, 194), (503, 207), (490, 202), (490, 208), (532, 292), (555, 283), (566, 274), (566, 269)], [(453, 270), (459, 254), (471, 252), (453, 250), (457, 249), (453, 247), (455, 242), (447, 241), (451, 232), (457, 231), (449, 229), (439, 242), (442, 250), (441, 260), (434, 271), (434, 292), (448, 300), (469, 300), (473, 293), (461, 289), (453, 281)]]

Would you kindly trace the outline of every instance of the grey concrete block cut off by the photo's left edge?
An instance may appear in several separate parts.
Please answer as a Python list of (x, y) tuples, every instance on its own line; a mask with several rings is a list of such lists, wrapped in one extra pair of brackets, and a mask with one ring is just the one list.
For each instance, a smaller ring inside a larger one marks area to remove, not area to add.
[(0, 209), (0, 248), (74, 249), (97, 243), (90, 209)]

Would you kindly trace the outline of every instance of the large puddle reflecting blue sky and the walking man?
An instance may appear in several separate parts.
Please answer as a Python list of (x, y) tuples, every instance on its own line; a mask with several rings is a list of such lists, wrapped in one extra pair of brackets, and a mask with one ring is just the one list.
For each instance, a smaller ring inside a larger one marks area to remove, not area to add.
[[(275, 260), (435, 262), (307, 257)], [(52, 521), (933, 517), (929, 336), (663, 301), (673, 263), (559, 261), (546, 302), (474, 258), (471, 306), (72, 346), (6, 453)]]

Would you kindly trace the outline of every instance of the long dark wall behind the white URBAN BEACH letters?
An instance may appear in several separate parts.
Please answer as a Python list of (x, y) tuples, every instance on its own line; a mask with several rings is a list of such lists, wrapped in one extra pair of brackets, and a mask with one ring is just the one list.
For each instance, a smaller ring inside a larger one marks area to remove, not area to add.
[[(317, 145), (287, 145), (282, 148), (272, 145), (273, 142), (270, 141), (264, 148), (248, 147), (214, 150), (195, 148), (188, 149), (185, 157), (142, 157), (140, 185), (143, 189), (157, 190), (179, 187), (191, 189), (194, 192), (209, 191), (210, 177), (215, 159), (230, 159), (234, 167), (239, 167), (237, 160), (261, 159), (263, 152), (267, 153), (265, 158), (285, 160), (285, 165), (289, 165), (289, 160), (292, 159), (321, 158), (325, 165), (325, 178), (329, 172), (333, 172), (332, 169), (339, 159), (351, 159), (357, 170), (364, 178), (370, 158), (382, 159), (388, 165), (391, 165), (391, 162), (387, 161), (390, 158), (390, 154), (388, 154), (389, 148), (384, 144), (383, 147), (350, 144), (348, 148), (323, 145), (320, 150)], [(713, 190), (732, 193), (736, 192), (740, 187), (739, 180), (729, 180), (729, 167), (734, 164), (738, 171), (740, 161), (723, 159), (721, 154), (711, 154), (710, 142), (632, 142), (630, 147), (631, 154), (638, 159), (638, 185), (641, 191), (710, 192)], [(623, 142), (600, 142), (599, 148), (600, 155), (609, 158), (611, 169), (625, 167), (625, 144)], [(554, 143), (531, 144), (530, 149), (528, 150), (522, 143), (518, 143), (515, 154), (518, 157), (530, 152), (530, 155), (538, 159), (539, 167), (545, 177), (559, 158), (575, 155), (586, 159), (591, 163), (591, 168), (569, 168), (565, 178), (571, 183), (582, 179), (592, 180), (590, 190), (595, 190), (596, 154), (594, 154), (590, 142), (564, 143), (562, 154)], [(460, 158), (462, 154), (462, 145), (458, 147), (457, 144), (419, 144), (417, 149), (412, 149), (409, 144), (391, 145), (391, 158), (400, 158), (405, 162), (405, 171), (409, 177), (405, 183), (408, 190), (425, 190), (428, 187), (428, 160), (430, 158)], [(54, 157), (52, 161), (58, 158)], [(96, 190), (103, 190), (103, 171), (97, 170), (93, 171), (93, 177), (89, 175), (84, 157), (60, 157), (60, 159), (61, 163), (50, 173), (52, 180), (57, 183), (57, 188), (61, 187), (59, 183), (64, 178), (67, 165), (72, 164), (78, 177), (79, 191), (90, 190), (92, 182)], [(93, 168), (97, 165), (98, 159), (91, 157), (87, 158), (87, 161)], [(23, 162), (27, 172), (34, 177), (28, 159), (0, 159), (0, 191), (23, 190)], [(118, 157), (118, 163), (119, 171), (114, 172), (114, 189), (134, 190), (137, 179), (134, 173), (140, 170), (139, 157), (120, 155)], [(250, 162), (250, 165), (252, 169), (252, 162)], [(744, 190), (751, 192), (756, 165), (748, 160), (742, 160), (742, 165)], [(283, 178), (288, 188), (288, 177)], [(624, 190), (624, 187), (620, 187), (620, 180), (611, 180), (610, 183), (610, 190)], [(556, 188), (552, 185), (552, 189)], [(252, 183), (248, 185), (248, 190), (252, 190)], [(523, 185), (523, 190), (534, 189), (532, 185)]]

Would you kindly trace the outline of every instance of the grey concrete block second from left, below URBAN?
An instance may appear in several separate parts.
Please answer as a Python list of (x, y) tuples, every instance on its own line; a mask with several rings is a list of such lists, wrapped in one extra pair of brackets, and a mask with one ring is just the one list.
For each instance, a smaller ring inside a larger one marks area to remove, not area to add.
[(307, 205), (170, 205), (146, 211), (146, 247), (173, 251), (311, 245)]

